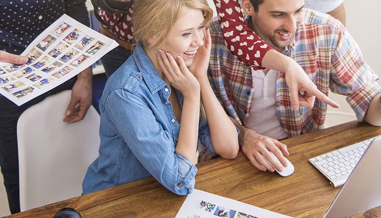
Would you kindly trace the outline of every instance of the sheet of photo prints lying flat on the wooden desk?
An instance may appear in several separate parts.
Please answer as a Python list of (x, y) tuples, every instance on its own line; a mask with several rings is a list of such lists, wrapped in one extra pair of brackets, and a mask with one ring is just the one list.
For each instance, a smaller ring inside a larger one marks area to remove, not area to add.
[(188, 195), (176, 218), (285, 218), (291, 217), (195, 189)]

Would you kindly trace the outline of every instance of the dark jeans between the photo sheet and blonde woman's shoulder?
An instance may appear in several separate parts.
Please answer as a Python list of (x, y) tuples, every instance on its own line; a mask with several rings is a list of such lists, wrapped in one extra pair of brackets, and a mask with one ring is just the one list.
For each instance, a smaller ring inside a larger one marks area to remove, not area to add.
[(102, 58), (102, 65), (105, 68), (106, 77), (109, 78), (116, 69), (121, 66), (132, 54), (131, 50), (118, 46), (109, 51)]

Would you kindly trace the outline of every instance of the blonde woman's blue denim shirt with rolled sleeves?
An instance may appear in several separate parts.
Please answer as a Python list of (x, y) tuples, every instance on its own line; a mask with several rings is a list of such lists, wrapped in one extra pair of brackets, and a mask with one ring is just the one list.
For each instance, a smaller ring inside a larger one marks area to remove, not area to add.
[[(175, 194), (192, 193), (197, 168), (175, 154), (180, 124), (168, 101), (170, 93), (138, 43), (103, 91), (99, 157), (87, 169), (83, 194), (150, 175)], [(182, 104), (182, 94), (176, 94)], [(214, 153), (209, 126), (202, 119), (199, 139)]]

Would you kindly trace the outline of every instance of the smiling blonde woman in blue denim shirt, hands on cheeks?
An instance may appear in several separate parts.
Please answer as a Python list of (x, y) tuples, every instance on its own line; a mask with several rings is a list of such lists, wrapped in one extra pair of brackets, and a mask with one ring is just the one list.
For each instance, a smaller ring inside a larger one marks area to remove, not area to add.
[(211, 38), (204, 26), (211, 17), (206, 0), (135, 2), (139, 42), (106, 83), (99, 157), (83, 194), (151, 175), (171, 192), (189, 194), (198, 139), (223, 158), (237, 156), (237, 130), (207, 79)]

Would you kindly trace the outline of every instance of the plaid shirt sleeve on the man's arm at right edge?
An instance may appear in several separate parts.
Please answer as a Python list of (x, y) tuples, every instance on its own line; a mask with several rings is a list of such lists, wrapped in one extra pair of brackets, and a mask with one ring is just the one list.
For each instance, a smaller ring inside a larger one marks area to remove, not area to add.
[(363, 121), (372, 98), (381, 92), (377, 75), (364, 61), (360, 48), (340, 22), (335, 34), (337, 44), (331, 59), (332, 92), (346, 95), (346, 101)]

